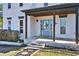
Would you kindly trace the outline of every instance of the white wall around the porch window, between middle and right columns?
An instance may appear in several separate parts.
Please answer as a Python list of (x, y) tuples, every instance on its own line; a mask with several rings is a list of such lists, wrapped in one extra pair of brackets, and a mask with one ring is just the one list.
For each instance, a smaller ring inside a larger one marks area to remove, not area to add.
[(75, 39), (75, 14), (68, 14), (66, 19), (66, 34), (60, 34), (60, 18), (56, 15), (56, 37)]

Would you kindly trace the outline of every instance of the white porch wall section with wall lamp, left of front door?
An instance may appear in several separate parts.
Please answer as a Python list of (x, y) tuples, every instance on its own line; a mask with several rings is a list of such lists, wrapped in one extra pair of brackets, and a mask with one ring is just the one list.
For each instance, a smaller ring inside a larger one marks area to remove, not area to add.
[(36, 22), (36, 20), (33, 16), (27, 17), (27, 38), (40, 36), (40, 21)]

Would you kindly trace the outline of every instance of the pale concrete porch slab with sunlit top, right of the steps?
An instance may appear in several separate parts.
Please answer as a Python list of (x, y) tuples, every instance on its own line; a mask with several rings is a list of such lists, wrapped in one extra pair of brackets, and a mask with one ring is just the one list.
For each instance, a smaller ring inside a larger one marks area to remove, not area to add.
[(46, 46), (52, 46), (52, 47), (59, 47), (59, 48), (66, 48), (66, 49), (72, 49), (72, 50), (79, 50), (79, 44), (76, 44), (75, 41), (62, 41), (62, 40), (55, 40), (53, 42), (52, 39), (36, 39), (33, 42), (37, 43), (45, 43)]

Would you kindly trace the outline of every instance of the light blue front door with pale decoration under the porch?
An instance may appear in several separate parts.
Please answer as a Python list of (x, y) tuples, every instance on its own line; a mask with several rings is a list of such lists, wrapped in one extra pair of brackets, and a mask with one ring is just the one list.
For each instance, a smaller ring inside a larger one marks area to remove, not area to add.
[(41, 20), (41, 35), (52, 38), (52, 20)]

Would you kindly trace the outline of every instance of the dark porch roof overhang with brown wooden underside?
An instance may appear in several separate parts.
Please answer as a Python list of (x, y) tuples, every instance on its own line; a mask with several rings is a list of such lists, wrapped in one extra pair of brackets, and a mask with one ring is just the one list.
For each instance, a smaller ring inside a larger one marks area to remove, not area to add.
[(71, 14), (76, 13), (76, 7), (79, 3), (60, 4), (49, 7), (35, 8), (29, 10), (22, 10), (26, 15), (32, 16), (47, 16), (47, 15), (59, 15), (59, 14)]

